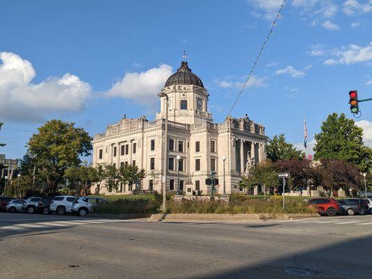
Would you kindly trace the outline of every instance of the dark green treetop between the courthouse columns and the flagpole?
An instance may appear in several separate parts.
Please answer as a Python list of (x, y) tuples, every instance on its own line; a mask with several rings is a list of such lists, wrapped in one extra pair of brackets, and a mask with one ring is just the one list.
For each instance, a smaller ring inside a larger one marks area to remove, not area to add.
[(285, 136), (281, 134), (274, 135), (271, 140), (267, 141), (266, 156), (274, 163), (277, 160), (289, 160), (293, 158), (302, 160), (305, 154), (297, 150), (293, 144), (285, 142)]

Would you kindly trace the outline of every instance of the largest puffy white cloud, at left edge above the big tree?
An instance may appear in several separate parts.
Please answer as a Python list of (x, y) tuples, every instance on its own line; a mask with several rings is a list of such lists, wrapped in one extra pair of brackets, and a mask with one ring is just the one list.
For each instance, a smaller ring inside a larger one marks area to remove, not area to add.
[(12, 52), (0, 52), (0, 119), (43, 121), (47, 115), (80, 112), (91, 96), (91, 86), (66, 73), (32, 83), (32, 64)]

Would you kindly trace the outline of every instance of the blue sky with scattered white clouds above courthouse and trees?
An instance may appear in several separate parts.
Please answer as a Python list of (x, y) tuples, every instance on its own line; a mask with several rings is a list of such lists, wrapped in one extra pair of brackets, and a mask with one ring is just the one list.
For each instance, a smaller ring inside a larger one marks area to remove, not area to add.
[[(154, 119), (156, 93), (189, 66), (207, 87), (214, 121), (228, 114), (281, 0), (3, 1), (0, 149), (22, 157), (47, 119), (91, 135), (128, 117)], [(372, 1), (288, 0), (232, 116), (245, 114), (301, 146), (348, 91), (372, 97)], [(372, 145), (372, 103), (357, 119)]]

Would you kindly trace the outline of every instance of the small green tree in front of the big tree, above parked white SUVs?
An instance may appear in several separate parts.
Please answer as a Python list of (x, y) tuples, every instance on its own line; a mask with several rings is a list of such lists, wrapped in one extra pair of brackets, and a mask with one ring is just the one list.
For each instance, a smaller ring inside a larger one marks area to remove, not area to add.
[(73, 188), (78, 195), (90, 193), (91, 186), (100, 179), (97, 169), (87, 165), (69, 167), (65, 171), (64, 178), (70, 181), (70, 188)]

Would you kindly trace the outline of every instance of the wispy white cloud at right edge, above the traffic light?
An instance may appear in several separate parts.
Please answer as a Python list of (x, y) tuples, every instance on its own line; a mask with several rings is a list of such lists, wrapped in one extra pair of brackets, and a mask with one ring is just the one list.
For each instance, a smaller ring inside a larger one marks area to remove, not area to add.
[(331, 54), (335, 58), (325, 60), (325, 65), (369, 62), (372, 61), (372, 42), (366, 47), (359, 47), (359, 45), (341, 47), (341, 49), (332, 50)]

